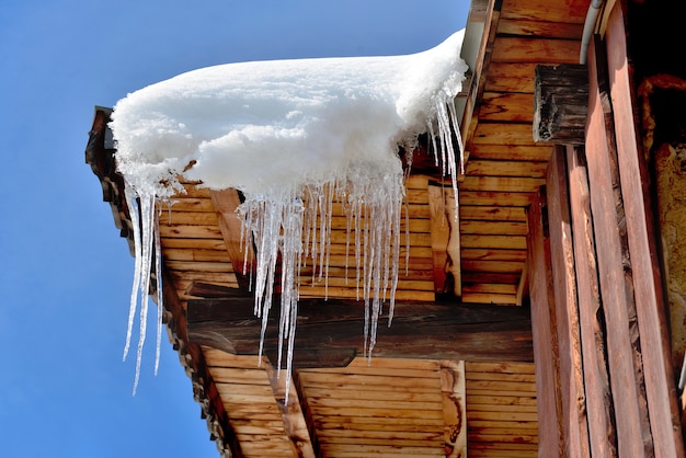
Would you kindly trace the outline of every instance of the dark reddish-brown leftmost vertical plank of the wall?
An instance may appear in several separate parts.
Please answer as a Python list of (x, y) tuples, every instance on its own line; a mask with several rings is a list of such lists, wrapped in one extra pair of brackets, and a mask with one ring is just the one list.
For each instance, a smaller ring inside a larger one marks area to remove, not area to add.
[(531, 302), (531, 335), (536, 364), (539, 456), (564, 457), (567, 446), (560, 392), (559, 348), (550, 272), (550, 242), (544, 226), (545, 197), (537, 195), (529, 207), (528, 265)]

